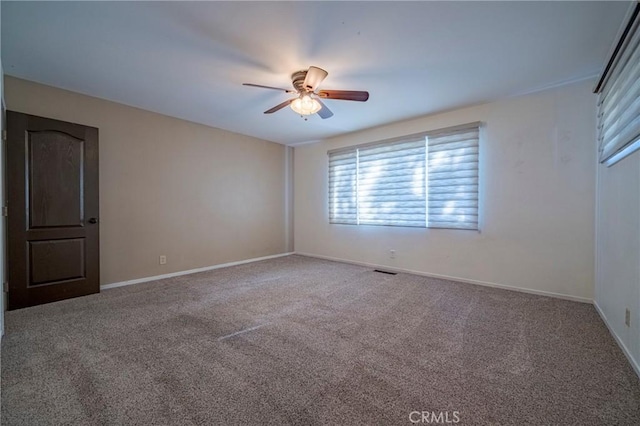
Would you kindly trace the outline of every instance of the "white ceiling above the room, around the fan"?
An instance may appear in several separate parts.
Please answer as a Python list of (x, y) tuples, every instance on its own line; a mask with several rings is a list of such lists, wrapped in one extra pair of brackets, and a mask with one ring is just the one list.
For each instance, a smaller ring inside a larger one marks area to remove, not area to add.
[[(7, 2), (5, 73), (285, 144), (535, 91), (599, 73), (628, 2)], [(316, 65), (304, 121), (290, 74)]]

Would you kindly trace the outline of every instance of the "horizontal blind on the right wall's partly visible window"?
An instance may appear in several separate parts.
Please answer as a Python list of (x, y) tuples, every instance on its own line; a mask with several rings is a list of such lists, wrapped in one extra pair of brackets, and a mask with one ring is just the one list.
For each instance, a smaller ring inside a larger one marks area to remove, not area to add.
[[(640, 19), (634, 15), (598, 99), (600, 161), (610, 162), (640, 141)], [(627, 155), (632, 150), (628, 150)]]

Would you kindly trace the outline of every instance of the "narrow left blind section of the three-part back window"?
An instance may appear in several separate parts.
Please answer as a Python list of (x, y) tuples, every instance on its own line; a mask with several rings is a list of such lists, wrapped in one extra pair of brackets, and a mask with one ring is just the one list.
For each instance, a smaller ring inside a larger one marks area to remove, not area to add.
[(329, 156), (329, 223), (358, 223), (356, 149)]

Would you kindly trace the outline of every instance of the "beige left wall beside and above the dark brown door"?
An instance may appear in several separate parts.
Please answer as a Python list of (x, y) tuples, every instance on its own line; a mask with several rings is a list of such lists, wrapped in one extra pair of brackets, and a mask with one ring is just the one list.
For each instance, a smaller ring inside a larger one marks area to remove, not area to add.
[(284, 146), (8, 76), (5, 98), (100, 129), (101, 284), (286, 251)]

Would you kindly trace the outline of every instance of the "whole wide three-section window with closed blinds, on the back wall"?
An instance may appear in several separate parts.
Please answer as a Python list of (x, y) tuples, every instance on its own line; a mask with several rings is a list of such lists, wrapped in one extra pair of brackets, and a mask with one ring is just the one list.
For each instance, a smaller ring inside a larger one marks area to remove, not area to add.
[(329, 151), (329, 222), (478, 229), (478, 128)]

